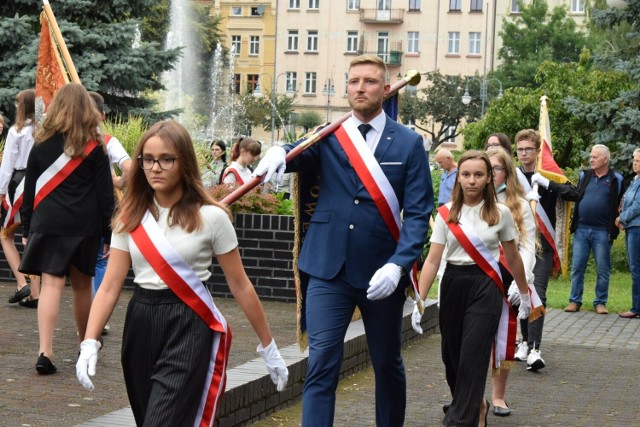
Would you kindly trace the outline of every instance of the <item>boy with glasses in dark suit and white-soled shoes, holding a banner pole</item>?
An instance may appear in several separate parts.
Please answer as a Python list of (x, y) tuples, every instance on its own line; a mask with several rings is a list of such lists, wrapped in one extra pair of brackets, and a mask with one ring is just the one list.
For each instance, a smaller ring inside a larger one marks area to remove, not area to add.
[[(542, 147), (540, 132), (534, 129), (523, 129), (515, 137), (516, 152), (520, 167), (516, 170), (520, 184), (527, 193), (528, 200), (536, 200), (536, 220), (538, 222), (538, 239), (540, 250), (536, 255), (536, 265), (533, 269), (534, 287), (542, 301), (547, 306), (547, 286), (554, 270), (554, 264), (559, 265), (556, 248), (556, 204), (558, 198), (562, 200), (578, 200), (576, 187), (567, 181), (564, 184), (551, 181), (536, 172), (536, 162)], [(533, 186), (538, 184), (538, 191)], [(526, 361), (527, 370), (538, 371), (544, 368), (540, 345), (544, 315), (536, 320), (520, 322), (522, 341), (516, 351), (516, 360)]]

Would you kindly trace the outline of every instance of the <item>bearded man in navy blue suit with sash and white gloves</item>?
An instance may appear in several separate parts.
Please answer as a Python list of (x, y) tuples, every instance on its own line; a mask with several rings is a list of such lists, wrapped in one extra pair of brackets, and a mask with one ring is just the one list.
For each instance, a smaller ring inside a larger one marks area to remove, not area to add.
[[(332, 426), (344, 336), (355, 307), (364, 322), (376, 376), (376, 424), (401, 426), (406, 378), (402, 310), (433, 209), (422, 137), (382, 110), (387, 70), (377, 56), (349, 67), (353, 115), (333, 134), (286, 163), (286, 172), (317, 168), (320, 194), (298, 268), (306, 294), (309, 362), (303, 426)], [(286, 152), (273, 147), (255, 175), (285, 171)]]

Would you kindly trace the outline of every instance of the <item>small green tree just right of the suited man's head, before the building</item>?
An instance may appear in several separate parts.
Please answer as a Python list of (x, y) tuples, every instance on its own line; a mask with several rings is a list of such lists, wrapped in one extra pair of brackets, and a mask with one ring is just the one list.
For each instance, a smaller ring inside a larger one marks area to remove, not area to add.
[(460, 134), (463, 120), (473, 120), (480, 113), (477, 103), (466, 106), (461, 101), (465, 89), (462, 76), (443, 75), (438, 70), (423, 75), (428, 86), (415, 95), (404, 91), (398, 115), (403, 123), (426, 132), (433, 141), (431, 149), (435, 149)]

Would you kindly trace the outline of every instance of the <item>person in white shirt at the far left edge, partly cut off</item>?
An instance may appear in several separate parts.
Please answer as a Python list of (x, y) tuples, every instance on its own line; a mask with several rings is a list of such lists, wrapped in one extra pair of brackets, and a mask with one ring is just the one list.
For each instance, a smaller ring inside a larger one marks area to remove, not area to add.
[(16, 248), (15, 229), (21, 222), (24, 177), (27, 159), (34, 142), (35, 99), (34, 89), (20, 91), (16, 96), (16, 122), (9, 129), (2, 152), (2, 164), (0, 164), (0, 199), (2, 200), (0, 242), (2, 242), (2, 252), (17, 282), (16, 291), (9, 297), (9, 304), (19, 303), (30, 308), (38, 307), (40, 277), (33, 276), (29, 285), (27, 276), (18, 271), (20, 253)]

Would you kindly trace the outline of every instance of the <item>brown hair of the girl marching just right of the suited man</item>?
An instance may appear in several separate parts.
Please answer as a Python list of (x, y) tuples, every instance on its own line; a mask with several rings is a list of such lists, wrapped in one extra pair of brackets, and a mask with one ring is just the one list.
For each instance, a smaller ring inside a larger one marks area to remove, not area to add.
[[(483, 151), (469, 150), (465, 151), (460, 160), (458, 160), (458, 173), (456, 174), (456, 183), (453, 186), (451, 194), (451, 210), (449, 211), (449, 222), (457, 224), (460, 221), (460, 212), (464, 204), (464, 194), (460, 185), (460, 168), (464, 162), (468, 160), (482, 160), (487, 167), (487, 174), (491, 174), (491, 162), (489, 156)], [(483, 191), (484, 206), (480, 210), (480, 217), (489, 225), (495, 225), (500, 221), (500, 211), (498, 210), (498, 200), (496, 198), (496, 190), (491, 183), (484, 187)]]

